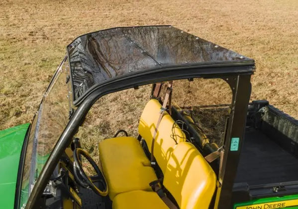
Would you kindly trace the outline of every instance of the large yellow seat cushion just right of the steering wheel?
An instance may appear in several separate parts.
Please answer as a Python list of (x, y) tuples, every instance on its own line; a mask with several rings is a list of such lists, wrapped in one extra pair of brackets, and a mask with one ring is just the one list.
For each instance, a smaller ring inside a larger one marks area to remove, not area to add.
[(99, 143), (99, 157), (111, 200), (123, 192), (152, 191), (149, 183), (157, 177), (137, 139), (105, 139)]

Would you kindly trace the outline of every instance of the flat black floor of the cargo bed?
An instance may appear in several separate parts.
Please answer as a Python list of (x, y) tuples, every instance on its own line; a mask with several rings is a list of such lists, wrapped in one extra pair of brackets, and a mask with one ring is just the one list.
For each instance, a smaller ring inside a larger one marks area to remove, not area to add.
[(246, 129), (235, 183), (298, 181), (298, 159), (253, 128)]

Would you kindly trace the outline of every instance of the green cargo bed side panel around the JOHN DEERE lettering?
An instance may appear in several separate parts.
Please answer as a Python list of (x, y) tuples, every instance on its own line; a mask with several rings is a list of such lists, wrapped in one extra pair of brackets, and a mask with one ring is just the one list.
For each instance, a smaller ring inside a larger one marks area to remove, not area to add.
[[(263, 204), (263, 203), (273, 203), (273, 202), (280, 202), (280, 201), (288, 201), (288, 200), (298, 200), (298, 195), (289, 195), (289, 196), (284, 196), (284, 197), (272, 197), (272, 198), (262, 198), (262, 199), (258, 199), (258, 200), (252, 200), (252, 201), (248, 201), (245, 203), (237, 203), (234, 205), (233, 209), (236, 209), (237, 207), (240, 206), (250, 206), (250, 205), (256, 205), (256, 204)], [(248, 207), (248, 209), (254, 209), (253, 207)], [(265, 207), (264, 207), (265, 208)], [(293, 206), (293, 207), (282, 207), (284, 209), (298, 209), (298, 205), (297, 206)], [(256, 209), (260, 209), (257, 208)], [(261, 208), (263, 209), (263, 208)], [(267, 208), (265, 208), (267, 209)], [(274, 207), (270, 207), (268, 206), (268, 209), (277, 209)]]

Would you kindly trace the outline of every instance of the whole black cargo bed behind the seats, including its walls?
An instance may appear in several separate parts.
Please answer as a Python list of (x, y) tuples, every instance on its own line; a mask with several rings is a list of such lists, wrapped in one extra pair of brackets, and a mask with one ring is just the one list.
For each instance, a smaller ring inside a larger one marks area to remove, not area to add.
[(297, 193), (298, 121), (256, 101), (249, 106), (233, 202)]

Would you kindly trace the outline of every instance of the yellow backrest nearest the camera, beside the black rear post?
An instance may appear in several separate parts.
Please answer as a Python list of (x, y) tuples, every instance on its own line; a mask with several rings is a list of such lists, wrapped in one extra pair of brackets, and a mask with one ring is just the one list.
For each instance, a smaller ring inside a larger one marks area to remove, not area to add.
[(163, 184), (180, 209), (208, 209), (216, 175), (193, 144), (181, 142), (170, 156)]

